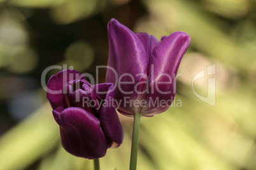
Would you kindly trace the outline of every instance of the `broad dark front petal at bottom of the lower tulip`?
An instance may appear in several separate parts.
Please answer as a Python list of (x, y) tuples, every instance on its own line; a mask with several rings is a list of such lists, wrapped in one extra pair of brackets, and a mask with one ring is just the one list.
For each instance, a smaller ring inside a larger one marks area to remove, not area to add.
[(98, 159), (106, 154), (108, 144), (99, 119), (82, 108), (58, 107), (53, 117), (60, 126), (62, 146), (78, 157)]

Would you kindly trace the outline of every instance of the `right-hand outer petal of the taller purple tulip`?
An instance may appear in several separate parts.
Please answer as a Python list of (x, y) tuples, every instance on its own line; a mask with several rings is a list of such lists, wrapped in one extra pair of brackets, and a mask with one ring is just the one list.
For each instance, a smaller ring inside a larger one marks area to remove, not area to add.
[[(142, 108), (143, 115), (160, 114), (166, 111), (173, 102), (177, 70), (189, 42), (190, 37), (185, 32), (174, 32), (164, 37), (153, 49), (148, 66), (150, 84), (150, 93), (146, 97), (148, 107)], [(161, 101), (164, 104), (160, 103)]]

